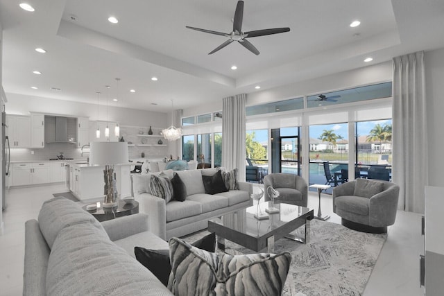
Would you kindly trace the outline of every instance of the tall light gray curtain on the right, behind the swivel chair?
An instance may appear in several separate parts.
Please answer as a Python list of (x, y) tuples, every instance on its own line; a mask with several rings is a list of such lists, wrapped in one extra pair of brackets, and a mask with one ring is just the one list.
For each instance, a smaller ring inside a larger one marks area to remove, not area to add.
[(427, 110), (424, 53), (393, 59), (393, 177), (398, 208), (424, 213), (427, 171)]

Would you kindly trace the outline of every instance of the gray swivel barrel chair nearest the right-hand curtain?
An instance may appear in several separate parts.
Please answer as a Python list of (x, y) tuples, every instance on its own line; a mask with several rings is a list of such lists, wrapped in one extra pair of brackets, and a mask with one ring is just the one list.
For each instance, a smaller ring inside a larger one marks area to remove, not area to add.
[(400, 187), (382, 180), (358, 178), (333, 189), (333, 213), (345, 227), (386, 233), (395, 223)]

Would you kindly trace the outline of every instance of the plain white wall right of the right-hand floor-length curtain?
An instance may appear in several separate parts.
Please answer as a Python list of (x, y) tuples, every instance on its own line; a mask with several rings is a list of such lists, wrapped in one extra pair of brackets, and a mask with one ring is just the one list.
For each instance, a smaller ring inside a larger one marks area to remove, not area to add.
[(429, 185), (444, 186), (444, 49), (425, 53)]

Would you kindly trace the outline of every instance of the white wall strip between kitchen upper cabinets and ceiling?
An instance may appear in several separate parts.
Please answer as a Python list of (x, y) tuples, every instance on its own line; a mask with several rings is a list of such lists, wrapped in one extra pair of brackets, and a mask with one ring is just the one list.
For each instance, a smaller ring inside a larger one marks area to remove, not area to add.
[(144, 110), (128, 109), (123, 107), (108, 106), (108, 119), (106, 106), (99, 106), (99, 117), (97, 116), (97, 105), (78, 103), (74, 101), (62, 101), (52, 98), (38, 96), (27, 96), (23, 94), (6, 94), (6, 113), (29, 115), (29, 112), (44, 112), (47, 114), (62, 114), (74, 116), (87, 116), (90, 121), (117, 121), (120, 125), (149, 126), (156, 128), (167, 128), (167, 114)]

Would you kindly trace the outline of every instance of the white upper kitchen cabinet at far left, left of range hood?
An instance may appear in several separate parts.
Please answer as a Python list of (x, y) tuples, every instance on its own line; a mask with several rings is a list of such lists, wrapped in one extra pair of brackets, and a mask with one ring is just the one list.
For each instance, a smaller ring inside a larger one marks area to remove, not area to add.
[(11, 148), (31, 147), (31, 117), (6, 115), (6, 135)]

